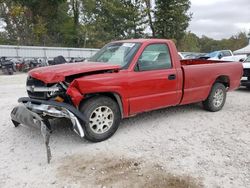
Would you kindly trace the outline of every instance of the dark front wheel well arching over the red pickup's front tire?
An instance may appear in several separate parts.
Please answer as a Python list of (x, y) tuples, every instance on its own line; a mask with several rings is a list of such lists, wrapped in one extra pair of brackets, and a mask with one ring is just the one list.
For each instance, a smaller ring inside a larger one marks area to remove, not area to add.
[(85, 102), (87, 101), (88, 99), (92, 98), (92, 97), (95, 97), (95, 96), (106, 96), (106, 97), (109, 97), (111, 98), (112, 100), (114, 100), (118, 106), (119, 106), (119, 109), (120, 109), (120, 112), (121, 112), (121, 117), (123, 117), (123, 105), (122, 105), (122, 100), (121, 100), (121, 96), (117, 93), (112, 93), (112, 92), (101, 92), (101, 93), (90, 93), (90, 94), (87, 94), (85, 95), (83, 101), (80, 103), (80, 106)]

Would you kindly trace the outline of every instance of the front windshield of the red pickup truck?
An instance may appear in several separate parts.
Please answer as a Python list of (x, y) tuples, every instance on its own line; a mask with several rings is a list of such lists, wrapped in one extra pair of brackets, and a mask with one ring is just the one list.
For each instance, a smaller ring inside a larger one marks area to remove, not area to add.
[(99, 50), (89, 61), (105, 62), (127, 68), (140, 43), (110, 43)]

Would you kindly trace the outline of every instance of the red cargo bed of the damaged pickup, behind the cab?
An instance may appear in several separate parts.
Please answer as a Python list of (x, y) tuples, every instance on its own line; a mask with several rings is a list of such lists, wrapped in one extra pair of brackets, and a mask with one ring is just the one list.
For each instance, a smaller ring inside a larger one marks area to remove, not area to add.
[(181, 60), (183, 71), (183, 98), (181, 104), (204, 101), (217, 79), (230, 82), (228, 90), (239, 87), (242, 63), (213, 60)]

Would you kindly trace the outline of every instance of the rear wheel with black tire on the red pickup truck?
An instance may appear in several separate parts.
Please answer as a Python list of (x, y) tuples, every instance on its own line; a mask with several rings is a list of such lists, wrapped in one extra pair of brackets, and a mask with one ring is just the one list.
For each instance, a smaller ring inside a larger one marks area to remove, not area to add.
[[(222, 95), (223, 95), (221, 97), (220, 103), (217, 103), (217, 105), (215, 104), (216, 92), (222, 92)], [(215, 83), (210, 91), (208, 98), (205, 101), (203, 101), (204, 109), (210, 112), (217, 112), (221, 110), (225, 104), (226, 95), (227, 95), (226, 87), (222, 83)]]

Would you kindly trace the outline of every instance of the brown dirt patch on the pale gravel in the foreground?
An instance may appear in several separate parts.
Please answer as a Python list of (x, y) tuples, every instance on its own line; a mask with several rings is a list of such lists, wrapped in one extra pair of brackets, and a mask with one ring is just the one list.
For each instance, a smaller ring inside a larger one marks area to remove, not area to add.
[(168, 173), (161, 165), (139, 159), (73, 155), (63, 159), (58, 179), (85, 187), (201, 188), (199, 180)]

